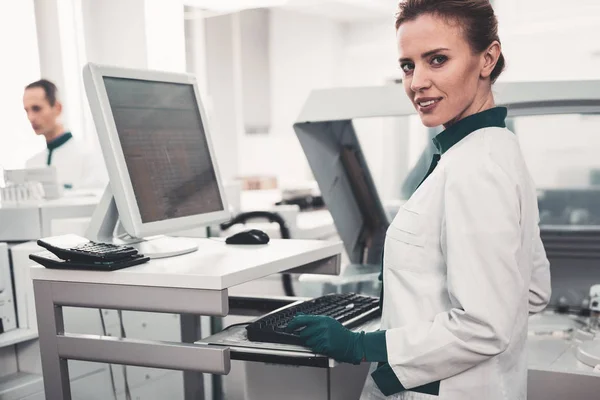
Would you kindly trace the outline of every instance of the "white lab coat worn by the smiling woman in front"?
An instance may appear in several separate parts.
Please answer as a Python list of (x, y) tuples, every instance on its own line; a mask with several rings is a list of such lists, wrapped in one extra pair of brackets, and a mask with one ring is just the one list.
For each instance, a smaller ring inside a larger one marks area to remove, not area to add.
[[(445, 152), (391, 223), (384, 251), (388, 362), (407, 389), (525, 400), (527, 322), (550, 297), (536, 191), (516, 136), (472, 132)], [(385, 398), (369, 376), (361, 399)]]

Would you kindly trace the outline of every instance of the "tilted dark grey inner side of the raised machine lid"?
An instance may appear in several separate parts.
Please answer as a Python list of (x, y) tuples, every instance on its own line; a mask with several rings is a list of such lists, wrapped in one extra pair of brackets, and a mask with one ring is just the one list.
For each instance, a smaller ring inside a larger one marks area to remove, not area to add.
[[(351, 119), (334, 119), (338, 99), (317, 111), (314, 97), (315, 92), (294, 130), (350, 262), (381, 265), (389, 221), (356, 131)], [(325, 121), (315, 121), (315, 114)]]

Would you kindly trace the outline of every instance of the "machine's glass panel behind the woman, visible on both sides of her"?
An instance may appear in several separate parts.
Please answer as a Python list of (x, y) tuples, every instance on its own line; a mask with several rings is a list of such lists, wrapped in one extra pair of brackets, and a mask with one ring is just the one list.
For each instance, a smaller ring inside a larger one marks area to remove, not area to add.
[[(430, 139), (439, 130), (416, 115), (353, 123), (386, 208), (408, 198), (429, 167)], [(538, 188), (541, 224), (600, 225), (600, 115), (514, 117), (507, 125)]]

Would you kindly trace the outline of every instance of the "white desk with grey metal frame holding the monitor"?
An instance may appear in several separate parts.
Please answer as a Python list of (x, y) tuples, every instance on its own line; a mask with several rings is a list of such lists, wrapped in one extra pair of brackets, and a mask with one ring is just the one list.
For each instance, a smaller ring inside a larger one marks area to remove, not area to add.
[[(44, 386), (51, 399), (70, 399), (68, 359), (184, 370), (186, 399), (202, 399), (201, 373), (227, 374), (228, 348), (193, 344), (198, 316), (225, 316), (228, 289), (273, 273), (337, 274), (342, 244), (273, 240), (228, 246), (196, 239), (199, 251), (114, 272), (31, 268)], [(181, 314), (183, 343), (115, 339), (64, 332), (63, 306)], [(196, 372), (188, 372), (196, 371)]]

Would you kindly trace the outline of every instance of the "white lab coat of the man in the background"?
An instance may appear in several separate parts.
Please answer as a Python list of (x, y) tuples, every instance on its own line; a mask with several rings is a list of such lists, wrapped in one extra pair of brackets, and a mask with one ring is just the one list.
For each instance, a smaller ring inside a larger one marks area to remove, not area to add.
[[(47, 166), (48, 149), (26, 162), (27, 168)], [(76, 137), (52, 151), (50, 165), (56, 167), (58, 181), (73, 189), (100, 189), (108, 183), (108, 174), (100, 150), (91, 151)]]

